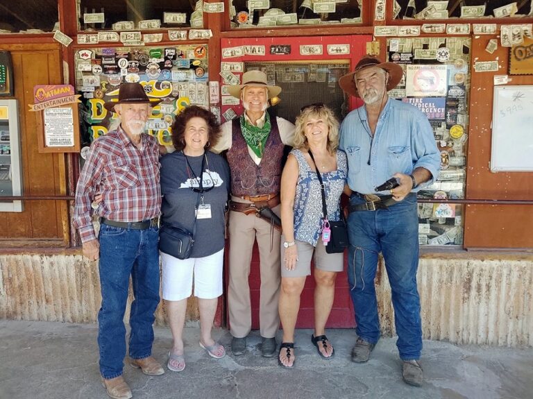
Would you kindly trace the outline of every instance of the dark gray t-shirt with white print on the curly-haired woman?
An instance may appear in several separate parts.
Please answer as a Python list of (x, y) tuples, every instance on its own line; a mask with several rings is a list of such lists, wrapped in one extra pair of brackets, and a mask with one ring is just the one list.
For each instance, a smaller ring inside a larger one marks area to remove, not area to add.
[[(206, 151), (205, 155), (203, 203), (211, 205), (211, 218), (196, 221), (191, 257), (212, 255), (224, 247), (224, 210), (230, 190), (230, 169), (221, 155), (210, 151)], [(162, 223), (192, 232), (194, 207), (198, 201), (198, 193), (192, 189), (199, 188), (196, 176), (201, 175), (203, 158), (203, 155), (187, 156), (190, 167), (183, 151), (164, 155), (161, 159)]]

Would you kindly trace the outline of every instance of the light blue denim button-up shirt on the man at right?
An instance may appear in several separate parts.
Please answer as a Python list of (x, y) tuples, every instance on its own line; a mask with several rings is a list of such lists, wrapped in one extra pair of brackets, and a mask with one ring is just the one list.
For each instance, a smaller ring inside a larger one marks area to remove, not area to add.
[(342, 122), (340, 136), (339, 148), (348, 157), (348, 185), (355, 192), (373, 193), (374, 187), (394, 173), (411, 174), (418, 167), (428, 169), (432, 179), (413, 192), (431, 185), (439, 176), (440, 153), (433, 130), (428, 118), (413, 105), (389, 99), (373, 138), (366, 108), (357, 108)]

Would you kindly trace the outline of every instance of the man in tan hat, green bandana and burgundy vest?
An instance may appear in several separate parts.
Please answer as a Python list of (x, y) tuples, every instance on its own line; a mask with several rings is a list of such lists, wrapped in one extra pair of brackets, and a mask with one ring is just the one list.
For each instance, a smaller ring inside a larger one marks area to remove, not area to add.
[[(251, 303), (248, 275), (252, 248), (257, 239), (260, 253), (260, 334), (261, 352), (271, 357), (276, 352), (276, 332), (280, 318), (280, 231), (273, 219), (256, 217), (256, 213), (272, 210), (279, 216), (280, 178), (283, 147), (292, 146), (294, 125), (282, 118), (270, 117), (268, 101), (281, 92), (281, 87), (267, 83), (261, 71), (248, 71), (242, 85), (228, 87), (228, 92), (241, 99), (244, 114), (222, 125), (222, 137), (214, 151), (228, 150), (231, 169), (230, 201), (230, 285), (228, 309), (233, 336), (232, 353), (242, 355), (246, 336), (251, 330)], [(276, 216), (276, 215), (275, 215)]]

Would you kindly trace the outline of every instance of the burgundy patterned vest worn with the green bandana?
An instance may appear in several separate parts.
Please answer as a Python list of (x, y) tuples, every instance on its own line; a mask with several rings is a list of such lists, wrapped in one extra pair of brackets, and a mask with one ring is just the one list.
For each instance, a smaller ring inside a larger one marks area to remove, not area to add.
[(280, 192), (284, 144), (276, 117), (271, 117), (270, 122), (271, 130), (264, 144), (263, 158), (260, 164), (256, 165), (248, 153), (240, 118), (232, 121), (232, 144), (227, 156), (231, 170), (231, 194), (234, 196), (259, 196)]

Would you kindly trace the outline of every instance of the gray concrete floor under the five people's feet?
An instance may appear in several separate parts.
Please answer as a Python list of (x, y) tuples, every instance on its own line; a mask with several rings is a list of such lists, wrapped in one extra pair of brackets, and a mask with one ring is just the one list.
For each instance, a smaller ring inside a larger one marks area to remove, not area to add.
[[(94, 324), (0, 321), (0, 399), (108, 398), (100, 384), (97, 331)], [(276, 357), (261, 357), (257, 332), (247, 353), (233, 357), (229, 332), (214, 331), (228, 350), (217, 360), (198, 346), (199, 330), (187, 328), (185, 371), (149, 377), (126, 364), (124, 377), (136, 399), (533, 398), (533, 348), (424, 341), (425, 384), (415, 388), (401, 379), (396, 339), (382, 339), (367, 364), (354, 364), (353, 330), (328, 331), (336, 350), (330, 361), (316, 354), (310, 335), (298, 330), (296, 367), (285, 370)], [(155, 329), (153, 355), (160, 362), (166, 363), (171, 343), (169, 329)]]

